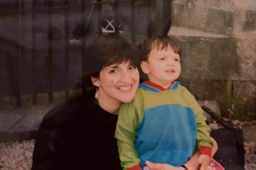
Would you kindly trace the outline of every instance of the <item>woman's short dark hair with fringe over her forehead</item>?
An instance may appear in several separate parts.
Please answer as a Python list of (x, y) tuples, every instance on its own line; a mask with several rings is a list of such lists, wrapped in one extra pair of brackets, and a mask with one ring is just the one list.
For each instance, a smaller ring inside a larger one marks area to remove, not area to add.
[(139, 66), (142, 51), (122, 35), (99, 35), (86, 48), (83, 56), (83, 75), (98, 77), (103, 67), (130, 62)]

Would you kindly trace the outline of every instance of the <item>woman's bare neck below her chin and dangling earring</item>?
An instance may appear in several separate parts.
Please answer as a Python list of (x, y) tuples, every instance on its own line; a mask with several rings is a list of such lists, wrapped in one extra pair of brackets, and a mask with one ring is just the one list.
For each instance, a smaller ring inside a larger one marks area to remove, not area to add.
[(102, 109), (114, 115), (118, 115), (118, 110), (122, 104), (122, 102), (108, 96), (101, 88), (99, 88), (98, 103)]

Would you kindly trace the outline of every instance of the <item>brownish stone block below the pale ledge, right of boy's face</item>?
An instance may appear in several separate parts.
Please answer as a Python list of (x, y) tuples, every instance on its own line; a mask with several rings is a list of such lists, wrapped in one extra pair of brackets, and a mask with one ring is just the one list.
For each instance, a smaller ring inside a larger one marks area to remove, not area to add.
[(179, 38), (182, 49), (181, 78), (229, 80), (234, 74), (239, 74), (236, 41), (233, 38)]

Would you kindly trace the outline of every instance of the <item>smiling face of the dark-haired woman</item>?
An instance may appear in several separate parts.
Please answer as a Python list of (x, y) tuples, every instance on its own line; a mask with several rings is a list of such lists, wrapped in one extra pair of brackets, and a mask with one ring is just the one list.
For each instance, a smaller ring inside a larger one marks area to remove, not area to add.
[(102, 68), (94, 83), (99, 88), (99, 96), (109, 102), (131, 102), (138, 89), (140, 75), (136, 66), (130, 62), (112, 64)]

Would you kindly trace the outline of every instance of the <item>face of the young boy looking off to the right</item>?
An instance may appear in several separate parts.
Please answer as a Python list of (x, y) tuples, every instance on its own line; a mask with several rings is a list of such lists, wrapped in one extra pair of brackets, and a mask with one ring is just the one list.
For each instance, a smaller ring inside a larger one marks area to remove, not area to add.
[(141, 63), (142, 71), (148, 75), (150, 81), (168, 88), (180, 76), (180, 55), (174, 53), (172, 47), (158, 50), (154, 47), (147, 61)]

